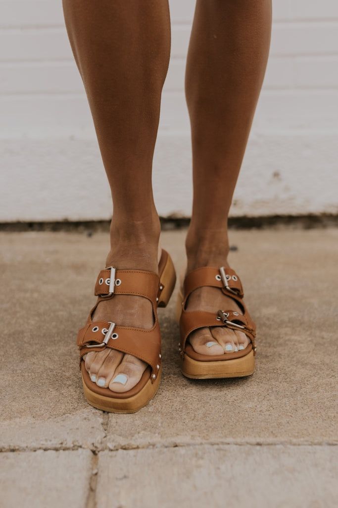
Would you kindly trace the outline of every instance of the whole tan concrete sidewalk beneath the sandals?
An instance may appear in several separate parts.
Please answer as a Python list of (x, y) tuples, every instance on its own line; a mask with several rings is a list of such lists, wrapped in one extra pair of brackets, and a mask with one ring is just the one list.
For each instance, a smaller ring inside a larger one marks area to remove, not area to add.
[[(178, 273), (184, 234), (162, 238)], [(338, 504), (338, 230), (230, 239), (258, 328), (256, 372), (183, 378), (174, 295), (160, 309), (157, 396), (108, 415), (84, 399), (75, 345), (107, 235), (0, 235), (2, 508)]]

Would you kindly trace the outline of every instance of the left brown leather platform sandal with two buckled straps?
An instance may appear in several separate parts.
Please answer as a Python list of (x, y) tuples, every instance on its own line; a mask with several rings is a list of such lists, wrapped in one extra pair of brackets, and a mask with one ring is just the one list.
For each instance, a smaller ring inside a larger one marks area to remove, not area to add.
[[(145, 406), (156, 394), (161, 379), (161, 333), (157, 307), (165, 307), (176, 282), (172, 260), (165, 250), (159, 262), (159, 275), (144, 270), (119, 270), (109, 266), (101, 270), (95, 284), (96, 304), (89, 313), (86, 325), (79, 330), (80, 370), (87, 401), (104, 411), (131, 413)], [(119, 323), (92, 321), (97, 305), (115, 295), (137, 295), (152, 302), (154, 326), (151, 329), (120, 326)], [(121, 351), (146, 362), (147, 368), (138, 384), (124, 393), (100, 388), (92, 382), (83, 359), (90, 351), (105, 347)]]

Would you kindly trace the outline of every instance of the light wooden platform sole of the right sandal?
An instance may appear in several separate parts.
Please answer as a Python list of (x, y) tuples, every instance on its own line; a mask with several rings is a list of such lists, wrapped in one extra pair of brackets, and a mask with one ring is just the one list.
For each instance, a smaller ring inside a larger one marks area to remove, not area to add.
[(190, 379), (217, 379), (227, 377), (245, 377), (253, 374), (255, 358), (253, 351), (233, 360), (217, 362), (199, 362), (184, 354), (181, 362), (181, 372)]

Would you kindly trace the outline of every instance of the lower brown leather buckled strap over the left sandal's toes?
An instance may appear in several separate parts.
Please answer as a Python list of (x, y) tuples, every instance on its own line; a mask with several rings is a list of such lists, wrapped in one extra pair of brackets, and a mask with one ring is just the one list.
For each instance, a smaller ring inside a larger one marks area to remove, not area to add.
[[(115, 325), (107, 337), (111, 323), (95, 321), (87, 323), (78, 333), (77, 344), (81, 358), (90, 351), (103, 351), (105, 347), (135, 356), (152, 368), (152, 379), (156, 379), (161, 366), (161, 334), (158, 322), (150, 330)], [(101, 347), (88, 347), (102, 344)], [(155, 375), (155, 378), (153, 377)]]

